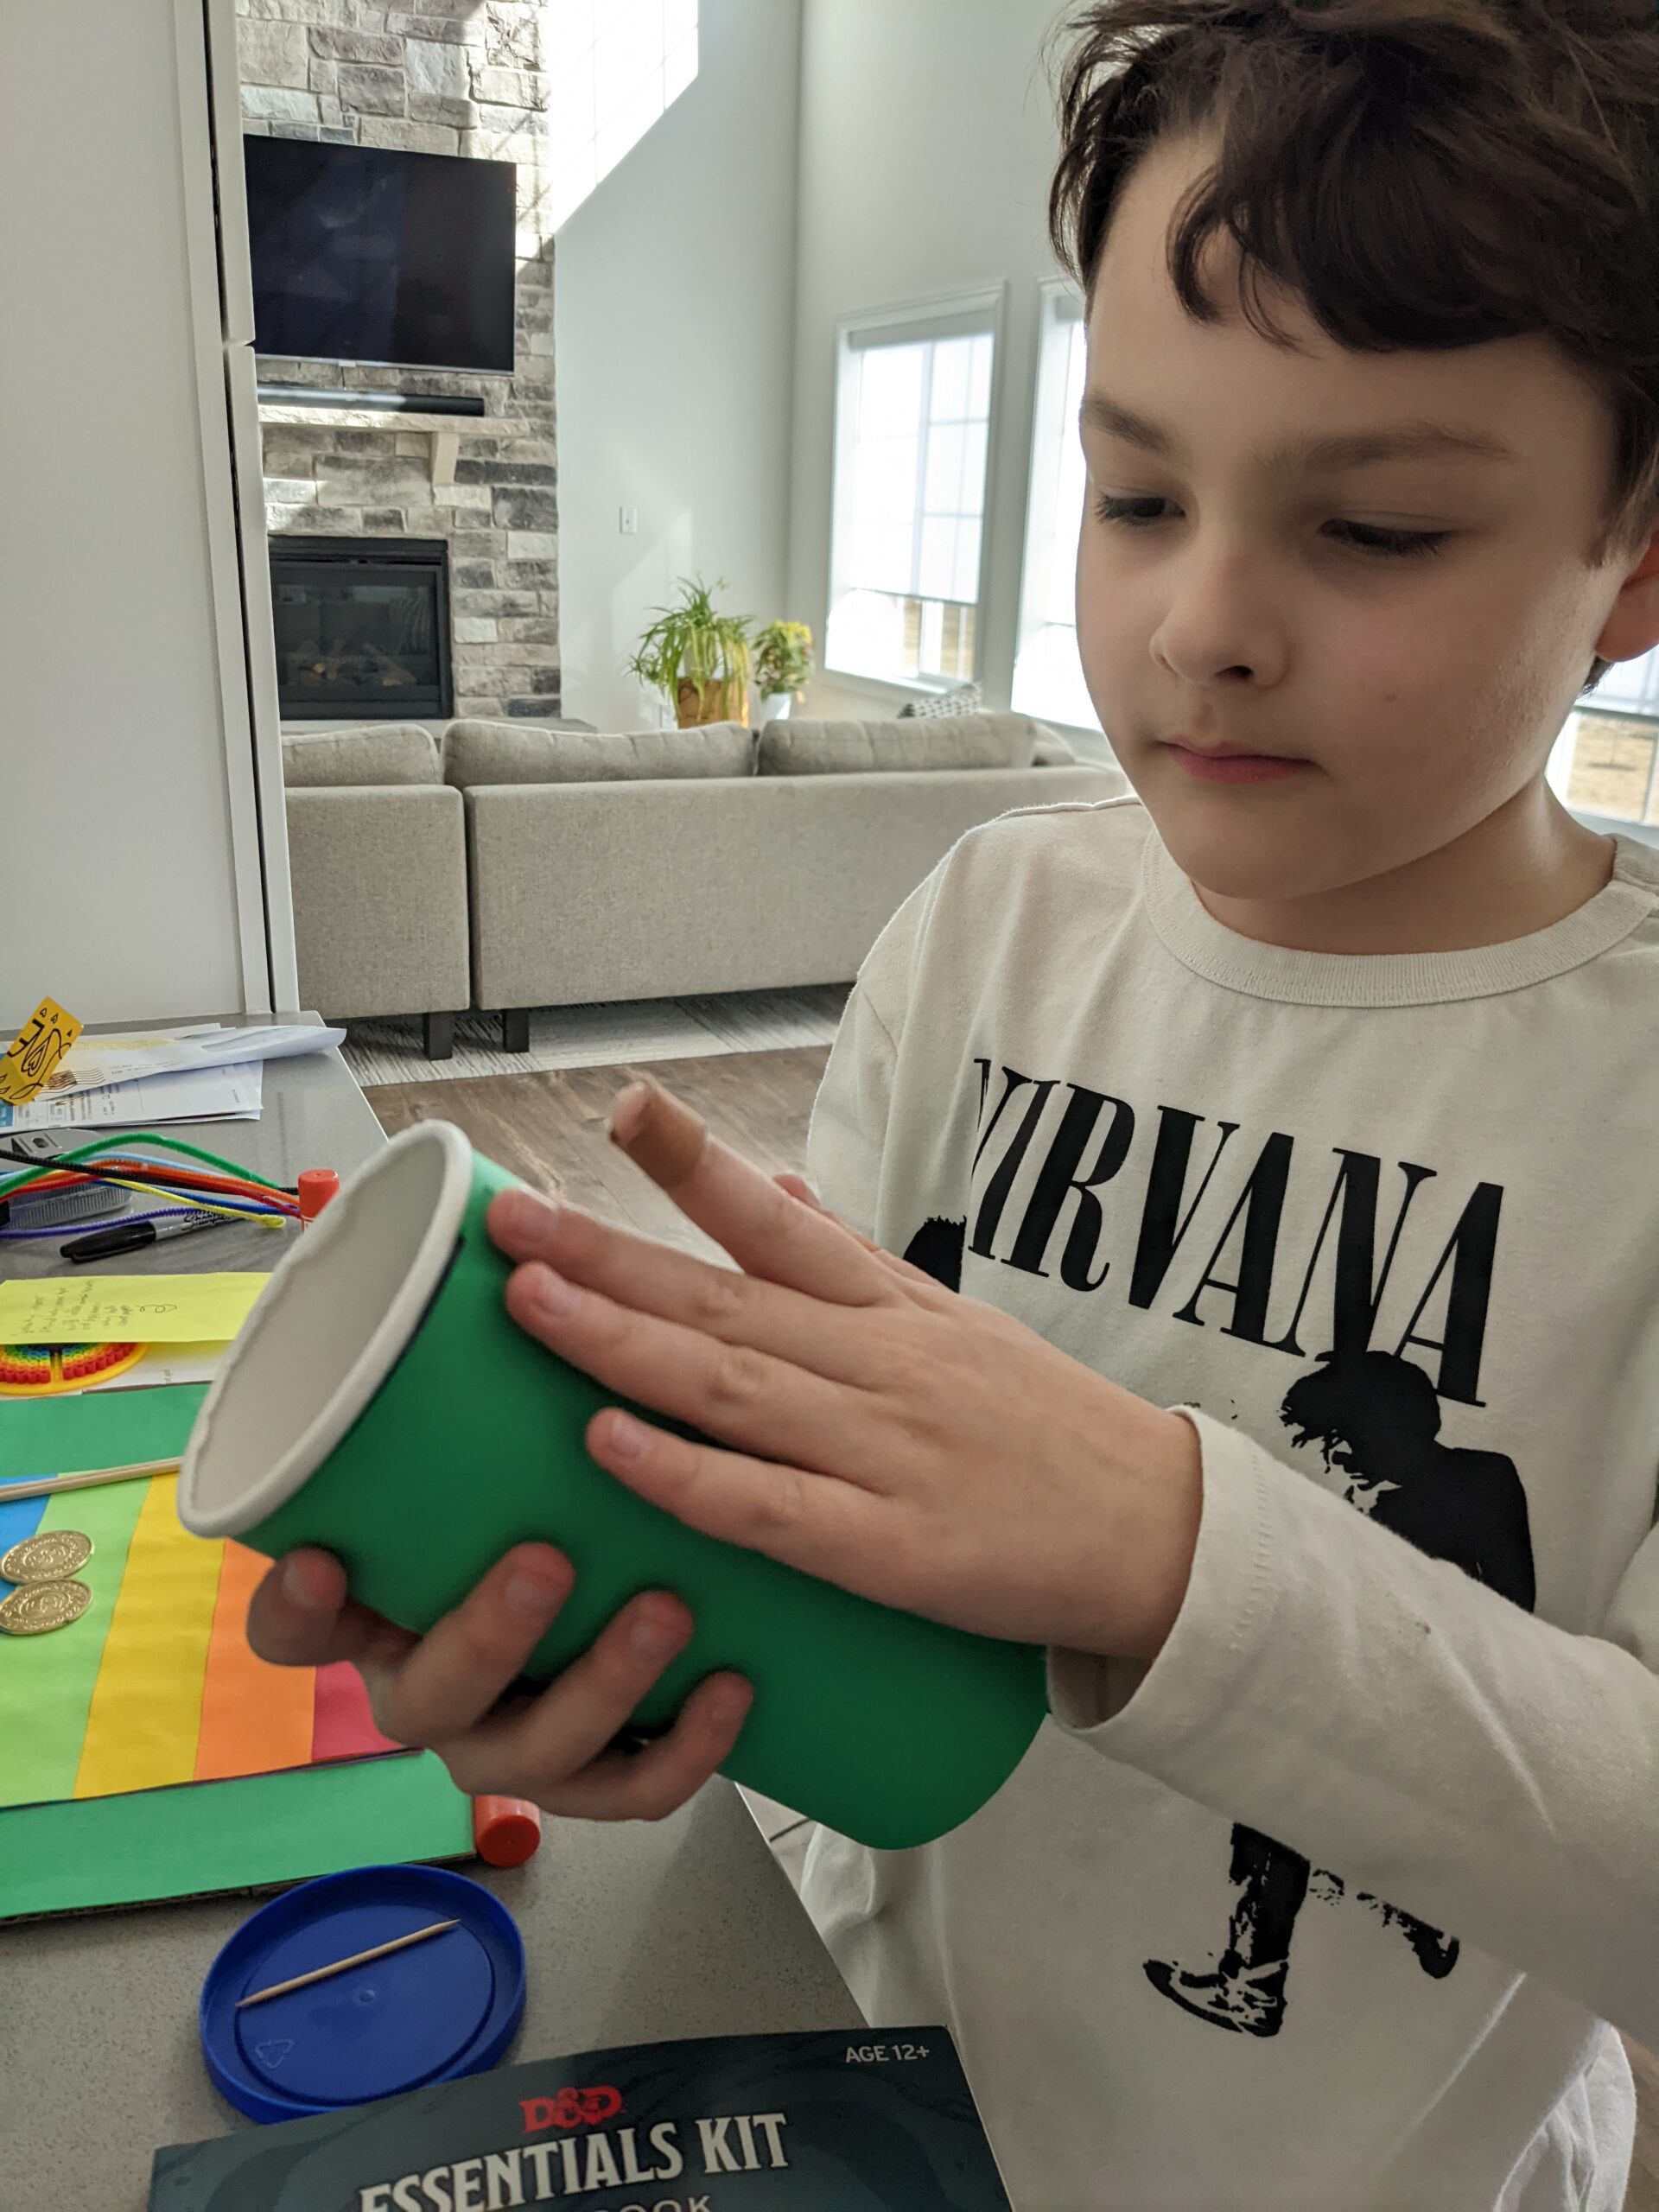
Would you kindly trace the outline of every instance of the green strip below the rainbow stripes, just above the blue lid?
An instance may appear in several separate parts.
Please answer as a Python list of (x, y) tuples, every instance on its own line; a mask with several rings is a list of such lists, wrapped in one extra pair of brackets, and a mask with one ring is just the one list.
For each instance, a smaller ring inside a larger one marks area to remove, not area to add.
[(471, 1798), (434, 1752), (0, 1812), (0, 1920), (274, 1889), (469, 1858)]

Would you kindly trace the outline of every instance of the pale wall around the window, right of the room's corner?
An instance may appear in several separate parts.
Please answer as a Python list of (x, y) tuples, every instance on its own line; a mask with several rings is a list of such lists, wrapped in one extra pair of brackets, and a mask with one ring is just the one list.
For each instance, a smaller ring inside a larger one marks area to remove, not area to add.
[[(790, 606), (823, 641), (836, 321), (1006, 283), (987, 491), (980, 672), (1006, 708), (1020, 617), (1037, 283), (1055, 274), (1053, 0), (805, 0)], [(818, 675), (807, 710), (891, 714), (905, 690)]]

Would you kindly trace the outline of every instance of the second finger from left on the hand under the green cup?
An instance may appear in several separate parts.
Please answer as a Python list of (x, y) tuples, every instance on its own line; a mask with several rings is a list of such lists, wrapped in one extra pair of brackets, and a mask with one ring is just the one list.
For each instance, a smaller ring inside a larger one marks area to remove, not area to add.
[(358, 1661), (380, 1730), (394, 1743), (431, 1745), (476, 1728), (524, 1672), (573, 1586), (551, 1544), (518, 1544), (389, 1663)]

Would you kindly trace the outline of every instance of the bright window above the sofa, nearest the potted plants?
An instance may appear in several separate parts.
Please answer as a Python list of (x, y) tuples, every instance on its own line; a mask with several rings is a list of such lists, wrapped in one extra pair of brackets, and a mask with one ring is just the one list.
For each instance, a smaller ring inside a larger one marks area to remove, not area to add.
[(889, 684), (975, 670), (1000, 305), (841, 327), (830, 668)]

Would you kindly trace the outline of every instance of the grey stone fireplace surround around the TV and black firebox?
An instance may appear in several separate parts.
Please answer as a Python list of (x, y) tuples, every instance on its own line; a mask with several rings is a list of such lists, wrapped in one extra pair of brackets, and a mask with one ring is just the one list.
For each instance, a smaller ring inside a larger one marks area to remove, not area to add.
[[(265, 515), (305, 538), (449, 542), (456, 714), (560, 712), (553, 241), (542, 0), (237, 0), (243, 124), (276, 137), (518, 164), (509, 376), (259, 361), (263, 385), (482, 394), (484, 420), (261, 405)], [(299, 420), (294, 420), (299, 416)], [(420, 420), (420, 418), (416, 418)]]

